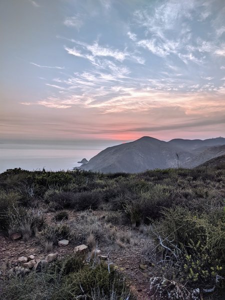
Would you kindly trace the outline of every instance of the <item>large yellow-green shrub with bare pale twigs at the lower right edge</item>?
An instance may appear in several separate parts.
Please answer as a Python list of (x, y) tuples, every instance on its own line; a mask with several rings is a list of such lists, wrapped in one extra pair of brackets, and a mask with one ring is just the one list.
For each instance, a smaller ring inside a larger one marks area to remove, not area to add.
[(222, 272), (222, 211), (198, 215), (176, 207), (163, 214), (164, 219), (152, 229), (165, 259), (161, 262), (169, 257), (181, 283), (188, 280), (192, 287), (213, 286)]

